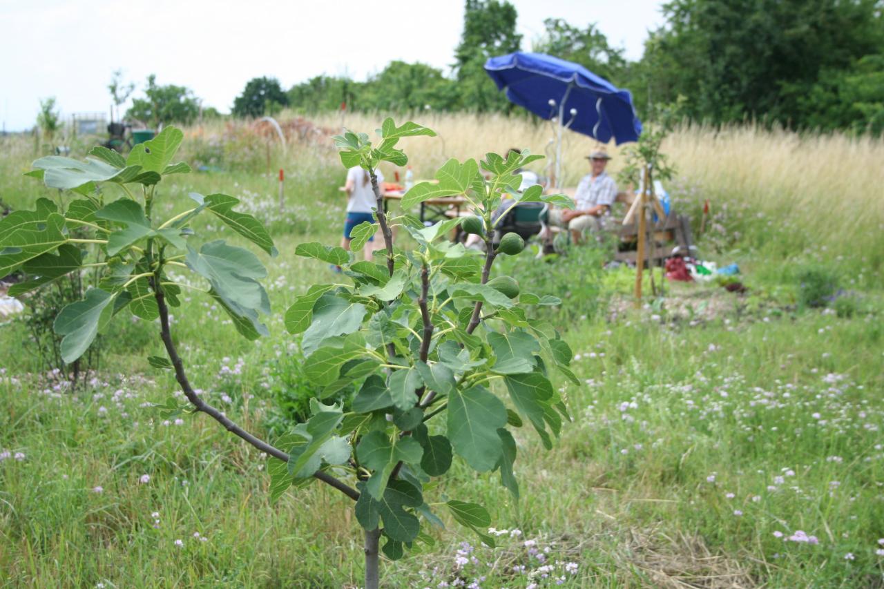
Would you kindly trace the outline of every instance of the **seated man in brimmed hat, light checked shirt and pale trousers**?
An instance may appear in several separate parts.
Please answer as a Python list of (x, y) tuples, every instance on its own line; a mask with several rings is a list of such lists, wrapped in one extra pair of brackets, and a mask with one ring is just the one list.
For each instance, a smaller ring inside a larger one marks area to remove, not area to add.
[[(593, 151), (590, 160), (592, 172), (583, 176), (574, 195), (574, 210), (550, 210), (550, 225), (568, 227), (575, 243), (583, 242), (583, 232), (587, 229), (604, 229), (605, 218), (611, 212), (611, 205), (617, 198), (617, 183), (607, 175), (605, 167), (611, 157), (604, 151)], [(552, 238), (551, 232), (541, 235), (546, 241)]]

